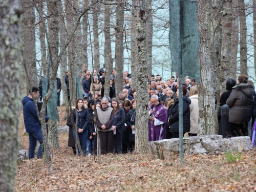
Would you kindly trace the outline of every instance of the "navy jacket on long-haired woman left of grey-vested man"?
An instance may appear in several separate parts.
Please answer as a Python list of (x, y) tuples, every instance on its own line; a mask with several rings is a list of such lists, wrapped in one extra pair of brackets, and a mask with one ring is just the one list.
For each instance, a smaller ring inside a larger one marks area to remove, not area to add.
[(78, 112), (75, 111), (76, 109), (74, 109), (72, 111), (73, 114), (73, 118), (74, 118), (74, 122), (76, 123), (76, 112), (77, 112), (77, 126), (76, 129), (83, 129), (83, 130), (87, 130), (89, 129), (89, 113), (88, 110), (84, 108), (84, 106), (82, 106), (82, 111)]

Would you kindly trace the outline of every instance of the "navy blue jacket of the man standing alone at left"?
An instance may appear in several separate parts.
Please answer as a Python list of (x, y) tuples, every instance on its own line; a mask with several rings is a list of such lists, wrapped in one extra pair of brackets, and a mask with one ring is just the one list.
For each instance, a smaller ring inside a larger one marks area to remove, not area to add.
[[(36, 133), (41, 132), (41, 124), (38, 119), (36, 113), (36, 106), (32, 98), (29, 96), (25, 96), (22, 99), (23, 104), (23, 116), (24, 116), (24, 123), (27, 133)], [(40, 112), (39, 112), (40, 114)], [(45, 117), (46, 122), (49, 120), (48, 117)]]

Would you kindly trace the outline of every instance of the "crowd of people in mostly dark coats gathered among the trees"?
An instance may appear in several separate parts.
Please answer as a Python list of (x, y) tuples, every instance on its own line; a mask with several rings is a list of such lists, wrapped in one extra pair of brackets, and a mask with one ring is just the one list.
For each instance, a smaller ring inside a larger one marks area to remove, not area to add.
[[(72, 147), (74, 154), (86, 155), (88, 151), (88, 156), (91, 156), (97, 150), (101, 150), (101, 154), (121, 154), (132, 152), (135, 148), (136, 90), (132, 86), (131, 74), (127, 71), (123, 73), (123, 90), (118, 93), (118, 99), (115, 92), (115, 70), (108, 78), (110, 78), (110, 97), (104, 96), (103, 69), (100, 69), (99, 75), (96, 70), (93, 74), (89, 70), (83, 72), (84, 97), (76, 100), (76, 106), (72, 107), (73, 110), (67, 120), (67, 125), (70, 127), (68, 146)], [(190, 78), (184, 80), (180, 88), (178, 77), (172, 76), (164, 81), (160, 75), (156, 75), (156, 78), (154, 75), (148, 75), (148, 141), (179, 137), (179, 89), (182, 89), (183, 100), (182, 134), (197, 136), (199, 122), (197, 81)], [(227, 77), (226, 84), (227, 92), (221, 95), (220, 109), (224, 104), (230, 108), (229, 136), (248, 136), (256, 115), (256, 94), (253, 83), (248, 81), (247, 76), (240, 75), (237, 82)], [(68, 73), (66, 86), (69, 90)], [(24, 116), (27, 109), (26, 102), (30, 101), (32, 105), (31, 98), (27, 97), (23, 99)], [(73, 128), (72, 117), (77, 124), (76, 130)], [(221, 121), (220, 116), (218, 120)], [(26, 119), (24, 121), (26, 126)], [(97, 148), (97, 132), (100, 149)], [(36, 138), (32, 137), (30, 142), (34, 143)], [(76, 152), (76, 137), (79, 139), (82, 152), (79, 150)], [(31, 152), (34, 150), (33, 147)]]

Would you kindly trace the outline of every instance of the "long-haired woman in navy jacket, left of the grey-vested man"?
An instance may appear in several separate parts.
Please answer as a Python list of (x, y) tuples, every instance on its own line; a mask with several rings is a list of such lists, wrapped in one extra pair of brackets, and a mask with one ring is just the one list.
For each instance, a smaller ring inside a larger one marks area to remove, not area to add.
[[(88, 135), (88, 128), (89, 128), (89, 113), (88, 110), (83, 106), (83, 100), (78, 98), (76, 100), (76, 108), (72, 110), (74, 122), (76, 124), (76, 131), (79, 140), (82, 141), (82, 153), (86, 155), (87, 151), (87, 135)], [(76, 116), (77, 115), (77, 116)], [(77, 117), (77, 122), (76, 122)], [(73, 135), (76, 139), (75, 130), (73, 129)], [(77, 147), (78, 148), (78, 147)], [(78, 149), (78, 155), (80, 155)]]

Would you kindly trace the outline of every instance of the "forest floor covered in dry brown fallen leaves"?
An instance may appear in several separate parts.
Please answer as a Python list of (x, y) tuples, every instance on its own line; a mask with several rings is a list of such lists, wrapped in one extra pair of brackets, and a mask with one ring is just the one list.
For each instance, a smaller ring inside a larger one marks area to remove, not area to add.
[[(20, 124), (19, 139), (28, 150), (23, 117)], [(256, 191), (256, 150), (189, 155), (180, 165), (178, 157), (154, 160), (149, 154), (77, 157), (67, 142), (68, 134), (59, 134), (51, 175), (42, 159), (18, 162), (15, 191)]]

